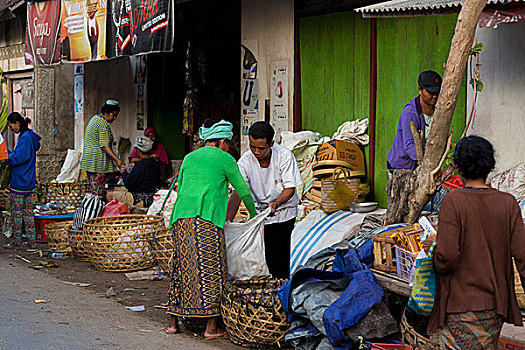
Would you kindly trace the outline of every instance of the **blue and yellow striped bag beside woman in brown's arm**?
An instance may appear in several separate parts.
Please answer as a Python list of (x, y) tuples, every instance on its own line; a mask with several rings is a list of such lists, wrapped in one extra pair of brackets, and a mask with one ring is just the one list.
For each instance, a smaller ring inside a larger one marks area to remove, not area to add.
[(430, 247), (428, 257), (416, 259), (414, 285), (408, 307), (416, 314), (430, 316), (436, 300), (436, 271), (432, 258), (436, 242)]

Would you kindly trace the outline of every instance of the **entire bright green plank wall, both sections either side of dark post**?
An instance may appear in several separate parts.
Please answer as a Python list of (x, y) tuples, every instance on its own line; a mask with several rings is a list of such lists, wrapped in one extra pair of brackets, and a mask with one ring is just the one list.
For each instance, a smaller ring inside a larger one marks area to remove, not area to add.
[[(456, 15), (377, 20), (377, 124), (375, 199), (386, 207), (386, 156), (399, 114), (417, 96), (423, 70), (443, 74)], [(300, 22), (303, 129), (331, 136), (347, 120), (368, 117), (369, 20), (352, 12), (302, 18)], [(455, 139), (465, 124), (466, 86), (453, 119)], [(365, 149), (368, 158), (368, 149)], [(368, 160), (367, 160), (368, 164)]]

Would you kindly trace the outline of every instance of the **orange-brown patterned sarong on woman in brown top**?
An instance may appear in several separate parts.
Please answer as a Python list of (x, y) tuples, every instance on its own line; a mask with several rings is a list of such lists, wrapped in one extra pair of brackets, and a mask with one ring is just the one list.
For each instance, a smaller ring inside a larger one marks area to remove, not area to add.
[(498, 349), (503, 319), (494, 310), (447, 314), (447, 326), (440, 330), (447, 349)]

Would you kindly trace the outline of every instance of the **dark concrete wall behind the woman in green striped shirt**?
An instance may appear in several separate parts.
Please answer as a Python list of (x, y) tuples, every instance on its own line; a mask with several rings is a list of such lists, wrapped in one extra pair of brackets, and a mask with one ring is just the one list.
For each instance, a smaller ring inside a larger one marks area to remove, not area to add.
[(84, 129), (107, 99), (120, 102), (119, 117), (111, 125), (113, 136), (129, 138), (133, 144), (143, 131), (137, 130), (137, 91), (128, 57), (84, 64)]

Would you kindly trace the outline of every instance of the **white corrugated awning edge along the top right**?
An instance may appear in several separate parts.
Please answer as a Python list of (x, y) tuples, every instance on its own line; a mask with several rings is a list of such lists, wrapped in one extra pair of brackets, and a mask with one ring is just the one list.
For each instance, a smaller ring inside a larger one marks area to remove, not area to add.
[[(488, 0), (487, 5), (504, 5), (523, 0)], [(458, 12), (463, 0), (392, 0), (356, 9), (365, 18), (398, 17), (422, 14), (443, 14)]]

